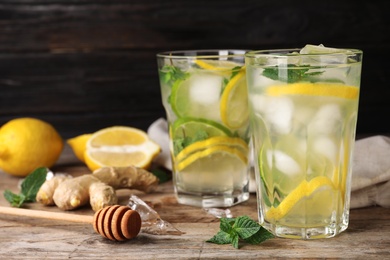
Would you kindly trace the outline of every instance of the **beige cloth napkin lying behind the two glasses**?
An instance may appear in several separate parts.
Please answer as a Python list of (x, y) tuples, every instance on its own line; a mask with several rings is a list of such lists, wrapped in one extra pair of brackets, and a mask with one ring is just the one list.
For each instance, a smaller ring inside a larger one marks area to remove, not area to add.
[[(148, 128), (148, 135), (162, 149), (154, 163), (171, 170), (166, 120), (160, 118), (153, 122)], [(356, 141), (352, 168), (351, 208), (390, 207), (390, 138), (378, 135)], [(252, 174), (251, 192), (255, 192), (254, 182)]]

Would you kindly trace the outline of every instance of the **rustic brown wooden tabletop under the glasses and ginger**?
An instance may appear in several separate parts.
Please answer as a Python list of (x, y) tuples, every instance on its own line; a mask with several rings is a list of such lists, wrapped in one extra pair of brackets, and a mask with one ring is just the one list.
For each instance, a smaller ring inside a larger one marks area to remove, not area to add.
[[(88, 173), (77, 163), (67, 147), (55, 171), (72, 174)], [(18, 192), (18, 178), (0, 172), (0, 191)], [(131, 191), (119, 191), (120, 203), (126, 204)], [(112, 242), (96, 234), (91, 225), (58, 220), (42, 220), (0, 213), (1, 259), (238, 259), (238, 258), (390, 258), (390, 209), (370, 207), (353, 209), (350, 226), (332, 239), (290, 240), (275, 238), (260, 245), (206, 243), (219, 230), (219, 220), (200, 208), (179, 205), (171, 182), (159, 186), (153, 194), (138, 194), (156, 205), (161, 217), (185, 232), (181, 236), (139, 234), (126, 242)], [(234, 216), (248, 215), (256, 219), (256, 202), (250, 200), (231, 208)], [(0, 206), (8, 206), (0, 195)], [(59, 212), (56, 207), (37, 203), (26, 208)], [(73, 214), (92, 215), (83, 208)]]

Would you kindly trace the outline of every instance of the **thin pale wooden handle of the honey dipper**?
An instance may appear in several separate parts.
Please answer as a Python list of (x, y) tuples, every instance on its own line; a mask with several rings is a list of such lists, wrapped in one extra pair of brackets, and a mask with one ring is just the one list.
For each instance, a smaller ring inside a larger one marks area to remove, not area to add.
[(20, 209), (20, 208), (13, 208), (13, 207), (0, 206), (0, 214), (43, 218), (43, 219), (51, 219), (51, 220), (64, 220), (70, 222), (89, 223), (89, 224), (93, 222), (93, 216), (69, 214), (69, 213), (61, 213), (61, 212), (50, 212), (50, 211), (43, 211), (43, 210)]

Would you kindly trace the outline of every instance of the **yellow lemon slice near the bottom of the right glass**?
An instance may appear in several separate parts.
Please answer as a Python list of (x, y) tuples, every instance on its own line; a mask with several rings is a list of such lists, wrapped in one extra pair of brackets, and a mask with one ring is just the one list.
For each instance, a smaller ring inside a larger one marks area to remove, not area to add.
[[(318, 176), (311, 181), (302, 181), (279, 206), (271, 207), (266, 213), (269, 221), (279, 221), (292, 211), (298, 214), (330, 214), (337, 190), (332, 181), (325, 176)], [(301, 205), (302, 204), (302, 205)]]

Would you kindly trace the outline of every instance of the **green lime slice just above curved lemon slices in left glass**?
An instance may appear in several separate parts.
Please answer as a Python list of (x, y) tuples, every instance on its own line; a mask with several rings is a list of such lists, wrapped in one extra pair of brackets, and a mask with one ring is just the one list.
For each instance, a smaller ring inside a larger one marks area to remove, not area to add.
[(204, 131), (211, 136), (231, 136), (231, 132), (225, 126), (203, 118), (182, 117), (177, 119), (172, 126), (173, 138), (193, 137), (199, 131)]

